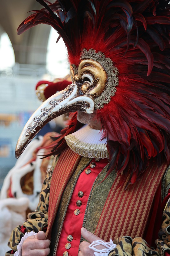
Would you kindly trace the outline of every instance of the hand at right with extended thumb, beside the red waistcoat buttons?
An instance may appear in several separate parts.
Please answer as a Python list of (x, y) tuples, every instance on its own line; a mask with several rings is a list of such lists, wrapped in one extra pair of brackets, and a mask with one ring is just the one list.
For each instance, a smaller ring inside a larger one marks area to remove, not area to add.
[[(90, 244), (93, 242), (93, 241), (96, 241), (96, 240), (102, 240), (101, 238), (99, 238), (98, 236), (94, 235), (93, 233), (87, 231), (86, 228), (82, 227), (81, 228), (81, 233), (82, 233), (82, 236), (88, 240), (90, 242)], [(102, 240), (104, 241), (104, 240)], [(80, 244), (80, 251), (79, 251), (79, 255), (78, 256), (93, 256), (94, 254), (94, 251), (93, 249), (90, 249), (89, 248), (89, 245), (90, 245), (88, 242), (86, 241), (83, 241), (81, 244)], [(96, 246), (97, 249), (104, 249), (105, 247), (103, 245), (98, 245)]]

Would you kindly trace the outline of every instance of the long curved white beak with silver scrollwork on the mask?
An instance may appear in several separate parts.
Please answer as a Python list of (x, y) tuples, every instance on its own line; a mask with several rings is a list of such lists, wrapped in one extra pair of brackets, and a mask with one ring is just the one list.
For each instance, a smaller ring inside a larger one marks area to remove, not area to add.
[(76, 84), (70, 84), (66, 89), (57, 92), (47, 99), (32, 114), (19, 136), (15, 157), (19, 158), (26, 146), (45, 124), (57, 116), (75, 111), (83, 111), (88, 114), (93, 113), (94, 102), (91, 97), (80, 94)]

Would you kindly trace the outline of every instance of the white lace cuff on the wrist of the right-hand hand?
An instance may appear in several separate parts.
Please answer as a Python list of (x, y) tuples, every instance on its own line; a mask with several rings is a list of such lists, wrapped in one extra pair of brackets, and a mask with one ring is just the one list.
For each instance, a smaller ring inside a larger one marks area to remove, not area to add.
[[(98, 245), (103, 245), (103, 246), (105, 246), (105, 248), (100, 249), (100, 250), (95, 248)], [(116, 247), (116, 245), (113, 244), (113, 241), (111, 238), (110, 238), (110, 242), (105, 242), (103, 240), (96, 240), (96, 241), (93, 241), (91, 243), (91, 245), (89, 245), (89, 248), (93, 249), (93, 251), (94, 251), (94, 254), (93, 254), (94, 256), (108, 256), (108, 253), (111, 250), (113, 250), (115, 247)]]

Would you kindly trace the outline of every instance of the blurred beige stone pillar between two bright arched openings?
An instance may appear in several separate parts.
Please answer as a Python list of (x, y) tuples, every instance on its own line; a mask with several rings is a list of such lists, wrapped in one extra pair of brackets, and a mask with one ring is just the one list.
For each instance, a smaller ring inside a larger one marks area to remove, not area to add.
[[(40, 9), (35, 0), (0, 1), (0, 25), (12, 43), (15, 61), (22, 64), (45, 65), (50, 26), (39, 25), (22, 35), (16, 29), (28, 16), (28, 11)], [(1, 31), (0, 31), (1, 33)]]

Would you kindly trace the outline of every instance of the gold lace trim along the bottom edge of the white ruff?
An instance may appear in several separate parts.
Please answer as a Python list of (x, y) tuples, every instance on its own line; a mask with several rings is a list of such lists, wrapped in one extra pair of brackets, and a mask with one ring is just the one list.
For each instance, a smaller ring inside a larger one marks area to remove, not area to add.
[(89, 158), (109, 158), (108, 150), (105, 144), (91, 144), (79, 141), (74, 135), (65, 137), (67, 145), (79, 155)]

